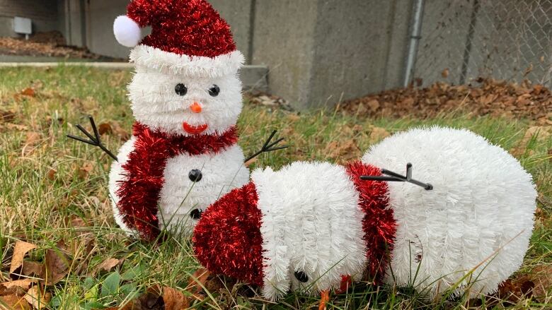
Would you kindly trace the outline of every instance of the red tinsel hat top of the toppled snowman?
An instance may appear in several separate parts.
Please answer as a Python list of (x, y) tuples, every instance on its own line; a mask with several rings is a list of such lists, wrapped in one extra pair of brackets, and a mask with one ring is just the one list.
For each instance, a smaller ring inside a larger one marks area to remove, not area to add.
[(207, 208), (197, 223), (197, 259), (215, 274), (263, 285), (263, 238), (255, 184), (234, 189)]

